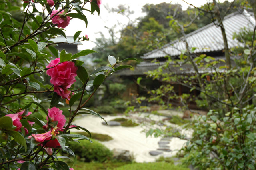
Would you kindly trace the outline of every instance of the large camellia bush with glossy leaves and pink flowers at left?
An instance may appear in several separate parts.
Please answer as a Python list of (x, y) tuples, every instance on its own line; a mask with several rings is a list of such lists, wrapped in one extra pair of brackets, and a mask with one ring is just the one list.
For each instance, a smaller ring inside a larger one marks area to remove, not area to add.
[[(122, 61), (108, 56), (108, 66), (89, 74), (78, 58), (95, 51), (60, 52), (52, 39), (66, 37), (63, 28), (73, 18), (87, 25), (85, 13), (99, 14), (100, 4), (101, 0), (0, 2), (0, 169), (71, 170), (62, 161), (69, 157), (59, 153), (75, 156), (66, 144), (90, 141), (70, 134), (71, 128), (90, 134), (72, 120), (79, 114), (102, 118), (85, 104), (110, 74), (130, 66), (117, 67)], [(74, 34), (75, 42), (88, 40), (87, 35), (80, 38), (80, 33)], [(69, 118), (58, 106), (69, 107)]]

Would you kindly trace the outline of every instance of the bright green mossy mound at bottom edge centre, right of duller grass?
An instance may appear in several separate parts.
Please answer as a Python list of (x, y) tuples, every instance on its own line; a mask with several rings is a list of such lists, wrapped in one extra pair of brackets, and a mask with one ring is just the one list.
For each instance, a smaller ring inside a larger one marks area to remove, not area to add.
[(189, 170), (166, 162), (133, 163), (114, 168), (113, 170)]

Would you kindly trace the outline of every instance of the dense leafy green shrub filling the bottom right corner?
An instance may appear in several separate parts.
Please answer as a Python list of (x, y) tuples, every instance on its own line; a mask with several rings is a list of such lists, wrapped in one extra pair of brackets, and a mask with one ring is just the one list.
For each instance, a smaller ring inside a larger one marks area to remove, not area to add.
[(186, 162), (199, 170), (244, 170), (256, 167), (256, 107), (233, 108), (224, 118), (210, 110), (198, 118), (184, 148)]

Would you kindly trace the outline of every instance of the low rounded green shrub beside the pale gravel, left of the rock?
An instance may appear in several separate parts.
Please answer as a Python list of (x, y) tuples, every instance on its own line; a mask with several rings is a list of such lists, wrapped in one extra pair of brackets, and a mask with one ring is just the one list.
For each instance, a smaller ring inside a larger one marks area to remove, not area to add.
[(106, 148), (103, 144), (92, 140), (93, 143), (90, 143), (85, 140), (78, 142), (70, 142), (68, 146), (78, 157), (78, 160), (84, 162), (105, 162), (112, 159), (112, 152)]

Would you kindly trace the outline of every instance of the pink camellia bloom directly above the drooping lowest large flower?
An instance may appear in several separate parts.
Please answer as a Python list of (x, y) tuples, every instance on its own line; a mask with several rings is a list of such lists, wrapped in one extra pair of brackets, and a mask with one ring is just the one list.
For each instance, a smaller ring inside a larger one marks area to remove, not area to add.
[[(58, 130), (60, 131), (66, 123), (66, 118), (62, 114), (62, 110), (60, 110), (59, 108), (53, 107), (51, 109), (48, 109), (48, 112), (49, 112), (48, 116), (50, 118), (50, 122), (58, 121), (57, 127), (58, 127)], [(46, 119), (47, 121), (49, 121), (48, 117)]]

